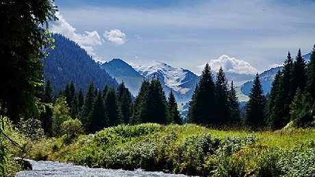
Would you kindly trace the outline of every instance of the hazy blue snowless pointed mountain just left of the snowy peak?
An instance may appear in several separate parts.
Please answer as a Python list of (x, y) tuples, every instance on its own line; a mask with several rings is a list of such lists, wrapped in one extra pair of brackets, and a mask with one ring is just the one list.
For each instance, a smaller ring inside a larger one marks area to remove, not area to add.
[(101, 69), (105, 69), (119, 83), (124, 82), (132, 95), (138, 95), (143, 76), (140, 75), (133, 67), (121, 59), (114, 58), (110, 62), (101, 64)]

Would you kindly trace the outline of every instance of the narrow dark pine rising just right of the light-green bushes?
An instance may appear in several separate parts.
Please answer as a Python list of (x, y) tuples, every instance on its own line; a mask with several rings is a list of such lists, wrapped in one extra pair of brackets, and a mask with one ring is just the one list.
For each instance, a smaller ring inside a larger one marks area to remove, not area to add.
[(93, 82), (88, 86), (88, 92), (86, 93), (86, 98), (84, 99), (84, 104), (82, 106), (81, 113), (79, 115), (79, 120), (82, 122), (86, 132), (90, 133), (90, 123), (92, 115), (94, 113), (95, 104), (95, 88)]

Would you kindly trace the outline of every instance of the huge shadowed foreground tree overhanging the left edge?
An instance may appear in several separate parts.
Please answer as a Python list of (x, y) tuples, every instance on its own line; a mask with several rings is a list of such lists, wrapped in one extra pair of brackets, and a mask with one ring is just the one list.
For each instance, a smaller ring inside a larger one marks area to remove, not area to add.
[(1, 115), (18, 123), (20, 115), (36, 117), (36, 94), (42, 82), (42, 62), (51, 38), (45, 31), (55, 19), (53, 1), (0, 3)]

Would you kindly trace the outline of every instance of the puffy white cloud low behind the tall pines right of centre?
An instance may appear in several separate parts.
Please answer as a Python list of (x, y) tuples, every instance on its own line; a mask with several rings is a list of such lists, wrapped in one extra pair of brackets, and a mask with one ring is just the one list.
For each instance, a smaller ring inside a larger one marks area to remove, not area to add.
[[(249, 62), (238, 60), (236, 58), (230, 58), (227, 55), (222, 55), (218, 59), (210, 60), (209, 64), (213, 72), (217, 72), (222, 66), (225, 73), (237, 73), (244, 75), (255, 75), (255, 73), (257, 73), (257, 69), (251, 66)], [(205, 64), (200, 66), (199, 69), (203, 69), (203, 67), (205, 67)]]

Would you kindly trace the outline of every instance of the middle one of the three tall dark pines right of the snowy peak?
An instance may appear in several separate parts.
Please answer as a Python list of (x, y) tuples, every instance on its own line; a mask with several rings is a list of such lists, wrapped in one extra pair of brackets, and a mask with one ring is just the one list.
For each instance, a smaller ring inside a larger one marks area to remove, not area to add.
[(229, 113), (229, 102), (228, 102), (228, 91), (227, 91), (227, 78), (225, 78), (225, 73), (220, 67), (216, 75), (216, 84), (214, 88), (215, 101), (216, 101), (216, 123), (229, 123), (230, 113)]

